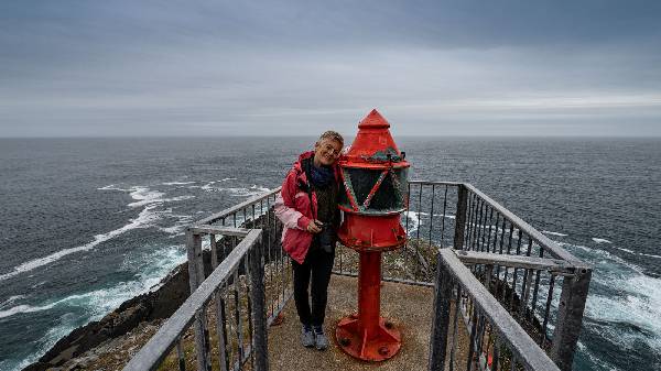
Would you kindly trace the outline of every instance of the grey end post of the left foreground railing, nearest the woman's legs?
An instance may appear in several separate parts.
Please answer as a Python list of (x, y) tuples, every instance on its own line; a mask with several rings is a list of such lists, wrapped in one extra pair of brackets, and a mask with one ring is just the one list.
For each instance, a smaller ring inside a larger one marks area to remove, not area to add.
[(264, 264), (262, 262), (263, 243), (256, 242), (250, 250), (250, 281), (252, 290), (252, 328), (254, 335), (254, 370), (269, 370), (269, 346), (267, 328), (267, 310), (264, 298)]

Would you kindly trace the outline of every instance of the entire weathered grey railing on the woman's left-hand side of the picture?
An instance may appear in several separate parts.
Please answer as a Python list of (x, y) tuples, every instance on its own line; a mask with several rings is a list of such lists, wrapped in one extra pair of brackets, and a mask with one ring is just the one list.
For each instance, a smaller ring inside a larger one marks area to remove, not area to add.
[[(293, 294), (290, 259), (280, 244), (282, 223), (272, 212), (279, 192), (252, 197), (186, 230), (192, 295), (126, 370), (156, 369), (173, 348), (180, 370), (191, 361), (185, 359), (188, 348), (194, 348), (197, 370), (210, 370), (212, 363), (241, 370), (247, 362), (253, 370), (267, 369), (267, 328)], [(194, 341), (184, 336), (191, 327)]]

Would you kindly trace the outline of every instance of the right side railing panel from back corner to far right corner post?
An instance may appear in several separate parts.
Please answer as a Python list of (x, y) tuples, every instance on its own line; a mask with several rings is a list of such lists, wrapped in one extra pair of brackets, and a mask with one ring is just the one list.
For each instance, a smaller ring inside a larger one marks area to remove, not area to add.
[(464, 262), (560, 369), (571, 370), (592, 268), (470, 184), (459, 186), (457, 210), (454, 247), (475, 257)]

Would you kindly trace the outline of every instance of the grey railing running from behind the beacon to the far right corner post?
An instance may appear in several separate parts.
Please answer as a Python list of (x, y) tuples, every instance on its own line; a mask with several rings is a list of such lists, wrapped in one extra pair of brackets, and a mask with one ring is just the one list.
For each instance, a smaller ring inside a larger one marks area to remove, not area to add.
[[(592, 273), (587, 264), (466, 183), (410, 182), (402, 223), (409, 242), (383, 254), (383, 281), (433, 286), (438, 248), (472, 251), (463, 261), (559, 367), (571, 370)], [(501, 258), (510, 255), (540, 262)], [(355, 257), (338, 249), (334, 273), (357, 275)]]

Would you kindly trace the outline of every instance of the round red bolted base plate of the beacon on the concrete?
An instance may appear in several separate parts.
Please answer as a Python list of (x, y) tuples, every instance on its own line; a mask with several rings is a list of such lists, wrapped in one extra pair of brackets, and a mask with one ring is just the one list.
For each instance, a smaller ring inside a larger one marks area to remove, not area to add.
[(402, 346), (400, 331), (383, 317), (379, 317), (379, 326), (371, 334), (360, 328), (357, 315), (345, 317), (337, 324), (335, 338), (342, 350), (364, 361), (387, 360)]

